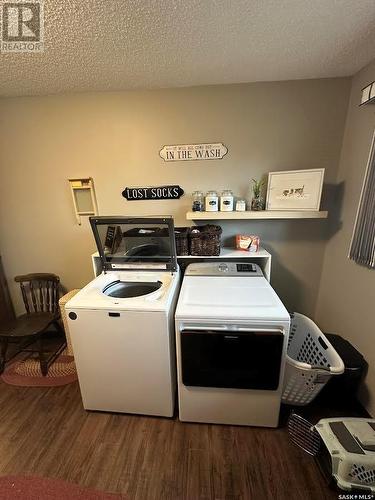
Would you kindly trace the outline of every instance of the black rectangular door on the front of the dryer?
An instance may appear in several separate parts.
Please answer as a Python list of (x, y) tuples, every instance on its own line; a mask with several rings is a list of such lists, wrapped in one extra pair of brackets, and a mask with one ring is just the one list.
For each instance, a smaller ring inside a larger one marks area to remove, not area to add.
[(187, 386), (277, 390), (281, 331), (181, 332), (182, 381)]

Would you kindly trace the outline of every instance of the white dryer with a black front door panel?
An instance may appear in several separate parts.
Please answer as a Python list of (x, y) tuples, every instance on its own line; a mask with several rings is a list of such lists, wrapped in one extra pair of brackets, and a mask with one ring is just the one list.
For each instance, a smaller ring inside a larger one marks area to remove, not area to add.
[(180, 420), (276, 427), (289, 325), (256, 264), (190, 264), (176, 308)]

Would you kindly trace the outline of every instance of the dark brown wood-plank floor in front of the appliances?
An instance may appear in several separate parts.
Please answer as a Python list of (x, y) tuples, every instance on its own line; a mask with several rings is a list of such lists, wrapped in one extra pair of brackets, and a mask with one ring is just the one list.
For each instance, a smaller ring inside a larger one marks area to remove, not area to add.
[(139, 500), (338, 498), (285, 427), (88, 413), (77, 383), (0, 382), (0, 475), (25, 474)]

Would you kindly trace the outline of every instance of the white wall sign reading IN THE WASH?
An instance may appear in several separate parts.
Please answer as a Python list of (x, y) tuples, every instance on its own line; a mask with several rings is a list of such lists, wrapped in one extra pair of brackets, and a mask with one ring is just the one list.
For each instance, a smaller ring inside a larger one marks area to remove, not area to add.
[(164, 146), (160, 157), (164, 161), (221, 160), (228, 153), (222, 142), (212, 144), (176, 144)]

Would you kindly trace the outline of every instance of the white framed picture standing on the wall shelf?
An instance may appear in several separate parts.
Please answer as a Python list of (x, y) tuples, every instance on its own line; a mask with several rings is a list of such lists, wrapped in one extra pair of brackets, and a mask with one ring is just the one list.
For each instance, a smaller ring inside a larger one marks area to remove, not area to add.
[(319, 210), (324, 168), (268, 174), (266, 210)]

